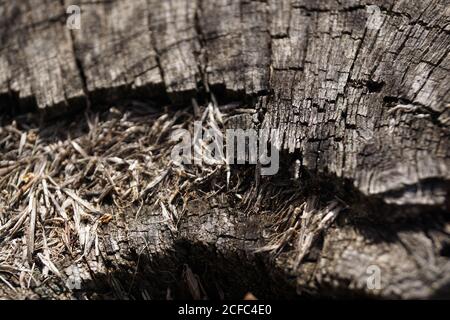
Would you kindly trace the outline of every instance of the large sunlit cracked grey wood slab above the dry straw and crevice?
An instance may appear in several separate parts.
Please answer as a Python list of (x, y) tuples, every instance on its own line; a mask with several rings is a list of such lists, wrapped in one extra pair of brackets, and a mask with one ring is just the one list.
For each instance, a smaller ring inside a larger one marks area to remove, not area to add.
[(220, 85), (256, 95), (262, 124), (282, 128), (307, 168), (392, 202), (442, 204), (448, 2), (375, 4), (380, 17), (364, 1), (94, 2), (69, 30), (69, 2), (3, 1), (0, 93), (44, 108), (117, 87)]

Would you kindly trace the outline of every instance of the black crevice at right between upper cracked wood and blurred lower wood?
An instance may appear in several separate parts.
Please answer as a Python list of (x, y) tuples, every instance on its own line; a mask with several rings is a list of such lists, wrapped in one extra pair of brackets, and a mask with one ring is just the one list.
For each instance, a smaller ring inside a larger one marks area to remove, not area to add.
[[(340, 199), (348, 205), (351, 214), (348, 215), (348, 223), (374, 223), (380, 225), (389, 224), (395, 228), (408, 228), (417, 225), (418, 219), (427, 218), (430, 221), (438, 221), (438, 224), (444, 225), (445, 221), (450, 221), (450, 216), (446, 214), (449, 204), (431, 205), (431, 204), (404, 204), (386, 203), (385, 197), (401, 197), (404, 192), (416, 191), (417, 185), (405, 186), (402, 189), (391, 190), (384, 194), (366, 195), (359, 191), (353, 183), (353, 180), (338, 177), (327, 171), (314, 171), (301, 167), (300, 180), (293, 179), (293, 165), (295, 160), (302, 159), (303, 155), (297, 151), (295, 154), (282, 152), (280, 154), (280, 171), (271, 178), (271, 181), (290, 181), (293, 187), (301, 190), (302, 194), (308, 195), (320, 194), (324, 201), (330, 201), (334, 198)], [(448, 198), (450, 184), (442, 179), (426, 179), (421, 181), (422, 190), (427, 188), (439, 189), (447, 192)], [(430, 189), (431, 190), (431, 189)], [(434, 189), (433, 189), (434, 190)], [(433, 216), (435, 219), (431, 219)]]

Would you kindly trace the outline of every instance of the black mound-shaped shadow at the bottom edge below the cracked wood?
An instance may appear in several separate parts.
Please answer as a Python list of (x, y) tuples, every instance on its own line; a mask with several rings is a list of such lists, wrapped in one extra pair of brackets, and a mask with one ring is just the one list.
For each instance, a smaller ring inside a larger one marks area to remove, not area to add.
[[(142, 300), (145, 292), (156, 300), (242, 300), (251, 292), (259, 299), (298, 298), (295, 282), (287, 281), (281, 270), (243, 251), (220, 253), (214, 246), (179, 240), (171, 252), (151, 260), (135, 253), (133, 261), (136, 265), (95, 275), (92, 281), (82, 283), (77, 295)], [(199, 295), (188, 281), (198, 285)]]

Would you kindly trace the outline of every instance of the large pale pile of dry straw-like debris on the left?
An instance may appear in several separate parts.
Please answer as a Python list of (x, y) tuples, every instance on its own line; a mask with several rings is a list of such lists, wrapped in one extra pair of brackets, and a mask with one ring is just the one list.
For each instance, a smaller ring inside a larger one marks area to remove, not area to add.
[[(220, 130), (225, 115), (216, 106), (194, 106), (197, 119)], [(229, 178), (225, 159), (212, 166), (171, 160), (171, 134), (192, 131), (195, 119), (190, 110), (157, 113), (140, 104), (41, 125), (0, 119), (0, 283), (29, 288), (40, 281), (37, 268), (44, 279), (62, 278), (61, 260), (99, 255), (97, 229), (115, 218), (106, 204), (158, 206), (176, 230), (197, 185)]]

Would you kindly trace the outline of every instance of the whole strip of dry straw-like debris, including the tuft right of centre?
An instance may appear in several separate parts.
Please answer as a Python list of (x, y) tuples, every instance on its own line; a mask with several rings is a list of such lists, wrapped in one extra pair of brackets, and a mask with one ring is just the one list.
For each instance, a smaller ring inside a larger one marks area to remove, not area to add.
[[(205, 193), (230, 195), (247, 214), (269, 213), (271, 234), (257, 251), (277, 256), (295, 250), (299, 265), (342, 205), (321, 207), (289, 179), (260, 183), (255, 168), (233, 174), (224, 157), (212, 165), (171, 159), (178, 129), (194, 136), (200, 120), (219, 132), (230, 115), (253, 111), (193, 101), (186, 110), (131, 103), (47, 123), (0, 118), (0, 292), (2, 286), (27, 290), (50, 278), (66, 283), (68, 275), (82, 277), (59, 267), (99, 258), (99, 227), (115, 223), (118, 212), (138, 218), (144, 206), (154, 208), (176, 232), (187, 202), (208, 198)], [(193, 279), (188, 271), (185, 277)], [(202, 296), (196, 281), (189, 284)]]

